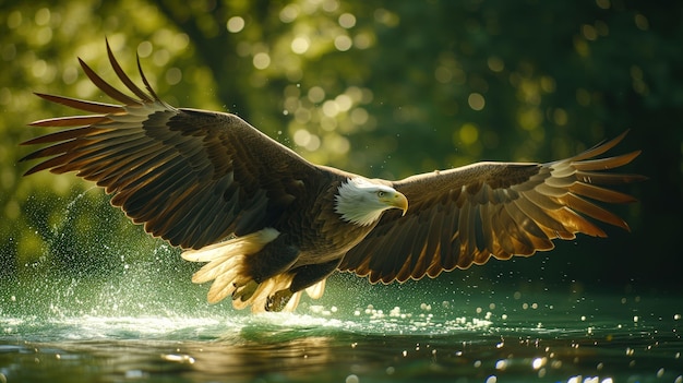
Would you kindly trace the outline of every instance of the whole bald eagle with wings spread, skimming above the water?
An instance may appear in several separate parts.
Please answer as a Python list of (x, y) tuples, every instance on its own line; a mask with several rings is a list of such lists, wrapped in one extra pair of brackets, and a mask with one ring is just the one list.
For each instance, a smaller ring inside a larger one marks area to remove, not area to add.
[[(577, 232), (606, 237), (594, 220), (628, 229), (595, 201), (634, 198), (601, 185), (643, 179), (607, 170), (639, 151), (597, 158), (625, 135), (546, 164), (477, 163), (398, 181), (311, 164), (239, 117), (164, 103), (137, 69), (139, 87), (107, 43), (111, 86), (79, 59), (89, 80), (122, 105), (37, 94), (91, 112), (31, 123), (56, 132), (22, 160), (26, 175), (75, 171), (111, 194), (135, 224), (205, 263), (208, 301), (237, 309), (293, 310), (302, 291), (320, 297), (335, 271), (370, 283), (405, 282), (442, 271), (553, 248)], [(592, 218), (592, 219), (591, 219)]]

